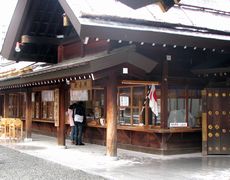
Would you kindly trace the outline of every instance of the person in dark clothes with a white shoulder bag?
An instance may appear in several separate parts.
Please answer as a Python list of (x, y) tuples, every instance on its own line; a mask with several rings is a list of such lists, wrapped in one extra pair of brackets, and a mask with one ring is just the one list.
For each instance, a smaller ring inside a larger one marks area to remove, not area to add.
[(82, 101), (78, 102), (74, 110), (75, 140), (76, 145), (85, 145), (82, 142), (83, 126), (86, 122), (85, 108)]

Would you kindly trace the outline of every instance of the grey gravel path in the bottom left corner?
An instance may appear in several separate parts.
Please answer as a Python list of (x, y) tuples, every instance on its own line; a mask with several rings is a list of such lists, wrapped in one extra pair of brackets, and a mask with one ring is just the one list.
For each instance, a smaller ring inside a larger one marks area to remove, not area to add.
[(0, 146), (0, 179), (100, 180), (104, 178)]

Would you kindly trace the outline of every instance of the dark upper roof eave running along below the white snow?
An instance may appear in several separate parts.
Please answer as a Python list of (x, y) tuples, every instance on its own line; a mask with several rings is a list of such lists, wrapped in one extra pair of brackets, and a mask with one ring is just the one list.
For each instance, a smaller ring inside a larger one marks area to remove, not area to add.
[(81, 23), (79, 36), (98, 37), (122, 41), (156, 43), (197, 48), (220, 49), (230, 52), (230, 39), (222, 35), (185, 32), (181, 30), (168, 30), (164, 28), (134, 26), (130, 24), (104, 23), (100, 20), (79, 18)]

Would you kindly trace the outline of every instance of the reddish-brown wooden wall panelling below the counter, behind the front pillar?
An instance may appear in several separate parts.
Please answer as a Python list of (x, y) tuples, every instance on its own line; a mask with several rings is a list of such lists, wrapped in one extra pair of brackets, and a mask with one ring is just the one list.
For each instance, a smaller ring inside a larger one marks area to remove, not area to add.
[[(163, 139), (166, 145), (162, 145)], [(84, 141), (106, 145), (106, 129), (87, 127)], [(118, 129), (118, 147), (153, 154), (201, 152), (201, 132), (149, 133)]]

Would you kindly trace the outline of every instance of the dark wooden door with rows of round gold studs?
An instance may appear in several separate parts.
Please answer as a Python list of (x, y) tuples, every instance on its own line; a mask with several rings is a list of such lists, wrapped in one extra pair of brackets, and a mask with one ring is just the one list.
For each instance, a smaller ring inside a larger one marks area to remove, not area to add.
[(230, 154), (230, 89), (207, 89), (207, 152)]

